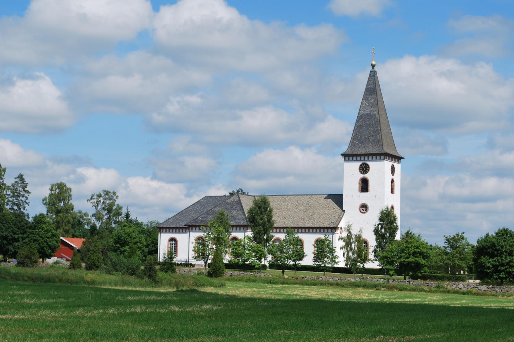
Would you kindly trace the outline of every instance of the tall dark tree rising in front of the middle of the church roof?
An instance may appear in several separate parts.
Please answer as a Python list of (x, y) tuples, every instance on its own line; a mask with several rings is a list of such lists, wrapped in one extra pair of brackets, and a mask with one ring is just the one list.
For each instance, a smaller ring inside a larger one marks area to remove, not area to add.
[(246, 219), (252, 229), (252, 237), (256, 244), (264, 247), (267, 251), (269, 243), (273, 239), (271, 230), (275, 226), (273, 220), (273, 208), (265, 195), (255, 198), (252, 206), (248, 209)]

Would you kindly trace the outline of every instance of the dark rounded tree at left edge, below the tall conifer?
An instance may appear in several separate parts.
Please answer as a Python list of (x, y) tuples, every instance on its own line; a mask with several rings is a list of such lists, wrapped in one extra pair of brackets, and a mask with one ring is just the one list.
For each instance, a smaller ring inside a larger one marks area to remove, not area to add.
[(16, 257), (31, 229), (30, 221), (25, 214), (3, 210), (0, 212), (0, 228), (0, 251), (4, 259)]

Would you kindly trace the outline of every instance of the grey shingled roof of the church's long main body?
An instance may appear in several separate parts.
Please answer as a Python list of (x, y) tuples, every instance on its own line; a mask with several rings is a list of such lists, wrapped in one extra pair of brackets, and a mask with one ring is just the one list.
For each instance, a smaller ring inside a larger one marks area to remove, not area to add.
[[(228, 213), (231, 225), (247, 226), (246, 214), (255, 197), (259, 196), (206, 196), (159, 227), (206, 225), (219, 210)], [(337, 227), (344, 214), (343, 195), (271, 195), (268, 198), (275, 227)]]

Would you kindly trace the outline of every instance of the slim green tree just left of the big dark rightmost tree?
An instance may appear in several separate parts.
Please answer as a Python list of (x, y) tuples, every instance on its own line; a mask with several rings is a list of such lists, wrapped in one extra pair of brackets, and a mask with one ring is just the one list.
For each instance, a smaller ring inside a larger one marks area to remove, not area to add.
[(453, 274), (465, 270), (472, 259), (471, 244), (468, 242), (464, 232), (454, 235), (443, 235), (445, 237), (445, 250), (447, 253), (448, 266)]

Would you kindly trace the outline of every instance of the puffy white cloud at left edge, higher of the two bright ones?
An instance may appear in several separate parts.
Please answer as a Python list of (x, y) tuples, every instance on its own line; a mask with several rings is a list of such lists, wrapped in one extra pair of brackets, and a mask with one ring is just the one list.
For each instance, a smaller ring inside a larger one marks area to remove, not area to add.
[(47, 133), (75, 123), (63, 94), (42, 72), (32, 79), (14, 77), (0, 90), (0, 130), (16, 133)]

